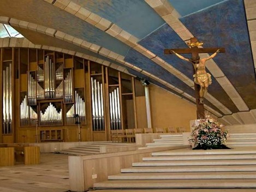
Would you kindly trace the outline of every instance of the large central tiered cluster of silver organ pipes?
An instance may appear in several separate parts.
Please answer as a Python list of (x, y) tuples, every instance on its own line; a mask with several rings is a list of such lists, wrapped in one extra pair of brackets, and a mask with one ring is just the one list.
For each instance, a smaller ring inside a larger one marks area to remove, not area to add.
[[(37, 71), (27, 72), (27, 93), (21, 98), (20, 104), (21, 127), (33, 125), (34, 120), (38, 118), (40, 126), (63, 125), (62, 108), (65, 104), (67, 104), (65, 114), (67, 125), (75, 124), (75, 114), (79, 115), (81, 124), (86, 124), (85, 97), (73, 91), (73, 69), (63, 66), (63, 62), (55, 63), (55, 56), (49, 54), (44, 56), (44, 63), (37, 65)], [(9, 68), (8, 73), (10, 73)], [(6, 77), (4, 81), (7, 82)], [(59, 104), (55, 105), (56, 102)], [(7, 99), (4, 102), (5, 107), (6, 103)], [(39, 113), (33, 109), (37, 105), (39, 105)], [(48, 106), (45, 108), (46, 105)], [(7, 115), (4, 117), (8, 118)]]

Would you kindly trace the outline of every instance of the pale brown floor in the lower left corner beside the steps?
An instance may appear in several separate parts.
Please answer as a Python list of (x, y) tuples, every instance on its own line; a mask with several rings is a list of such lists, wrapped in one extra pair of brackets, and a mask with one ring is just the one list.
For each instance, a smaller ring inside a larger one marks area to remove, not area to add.
[(64, 192), (68, 177), (68, 155), (41, 153), (39, 165), (0, 167), (0, 192)]

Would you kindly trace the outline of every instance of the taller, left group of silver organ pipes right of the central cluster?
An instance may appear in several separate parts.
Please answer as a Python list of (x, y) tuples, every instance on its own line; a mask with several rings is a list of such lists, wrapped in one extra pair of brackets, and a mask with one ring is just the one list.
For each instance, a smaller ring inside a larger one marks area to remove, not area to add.
[(103, 131), (105, 130), (105, 127), (102, 83), (91, 77), (91, 87), (93, 131)]

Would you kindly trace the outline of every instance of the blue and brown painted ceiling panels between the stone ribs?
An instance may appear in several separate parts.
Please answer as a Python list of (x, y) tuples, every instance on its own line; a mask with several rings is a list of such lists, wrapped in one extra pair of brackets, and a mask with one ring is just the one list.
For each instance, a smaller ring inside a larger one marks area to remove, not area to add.
[[(184, 62), (174, 55), (164, 55), (163, 52), (166, 48), (187, 48), (188, 46), (174, 29), (172, 29), (144, 0), (71, 1), (109, 20), (112, 24), (115, 23), (124, 31), (132, 34), (139, 39), (139, 45), (162, 58), (169, 65), (179, 70), (193, 81), (193, 69), (190, 63)], [(243, 1), (166, 1), (181, 15), (179, 19), (188, 31), (192, 33), (194, 37), (197, 37), (199, 41), (204, 42), (204, 47), (225, 47), (226, 52), (219, 53), (214, 58), (214, 61), (240, 94), (249, 110), (256, 109), (255, 69)], [(56, 1), (52, 1), (53, 4), (55, 2)], [(151, 61), (151, 59), (104, 31), (100, 31), (100, 29), (92, 26), (90, 23), (82, 21), (78, 17), (63, 9), (59, 9), (53, 4), (44, 0), (23, 0), (19, 3), (10, 4), (8, 0), (3, 0), (0, 4), (0, 15), (55, 28), (73, 35), (74, 37), (105, 47), (106, 49), (124, 56), (124, 61), (159, 77), (181, 89), (184, 93), (194, 97), (192, 87), (189, 87), (175, 75), (170, 74), (167, 70), (160, 67), (160, 65)], [(40, 9), (38, 9), (39, 7)], [(15, 29), (19, 31), (19, 28)], [(31, 37), (30, 40), (32, 41), (35, 39), (35, 35), (26, 32), (26, 30), (20, 29), (20, 31), (23, 32), (26, 38), (29, 39), (29, 37)], [(38, 38), (41, 38), (40, 35), (38, 35)], [(44, 41), (41, 40), (40, 43), (44, 44)], [(56, 43), (56, 45), (58, 44)], [(51, 46), (54, 46), (54, 40), (51, 41)], [(75, 47), (72, 47), (72, 49), (75, 49)], [(89, 55), (97, 55), (90, 51), (84, 52)], [(187, 58), (190, 57), (188, 54), (183, 56)], [(103, 56), (99, 57), (104, 59)], [(108, 58), (106, 58), (106, 60), (110, 61)], [(122, 65), (121, 63), (116, 63)], [(127, 69), (131, 74), (146, 78), (148, 81), (183, 97), (182, 94), (153, 80), (150, 76), (142, 75), (133, 69)], [(237, 106), (229, 98), (227, 92), (219, 85), (215, 78), (213, 78), (213, 83), (209, 87), (209, 93), (232, 113), (239, 111)], [(223, 111), (219, 110), (218, 107), (211, 104), (209, 101), (206, 100), (206, 104), (224, 115)]]

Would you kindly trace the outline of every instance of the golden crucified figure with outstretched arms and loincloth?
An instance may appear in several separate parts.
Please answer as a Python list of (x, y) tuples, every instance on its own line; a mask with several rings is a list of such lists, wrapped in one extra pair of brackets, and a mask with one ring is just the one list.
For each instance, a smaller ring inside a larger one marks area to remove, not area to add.
[(195, 74), (193, 75), (194, 77), (194, 82), (200, 85), (200, 103), (203, 103), (203, 98), (206, 96), (207, 91), (208, 91), (208, 86), (211, 85), (212, 79), (211, 75), (206, 72), (205, 70), (205, 62), (209, 59), (212, 59), (217, 55), (217, 53), (220, 52), (218, 49), (215, 53), (213, 53), (210, 57), (203, 58), (201, 59), (199, 56), (197, 57), (192, 57), (191, 59), (185, 58), (178, 53), (176, 53), (173, 50), (170, 50), (171, 53), (175, 54), (177, 57), (181, 58), (184, 61), (190, 62), (193, 64), (193, 67), (195, 69)]

